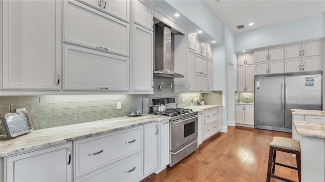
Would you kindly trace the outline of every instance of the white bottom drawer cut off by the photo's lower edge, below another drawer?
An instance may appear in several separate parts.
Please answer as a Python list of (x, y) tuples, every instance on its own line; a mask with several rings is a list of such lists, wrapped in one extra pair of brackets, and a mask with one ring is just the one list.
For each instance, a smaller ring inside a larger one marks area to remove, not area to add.
[(142, 166), (143, 157), (142, 153), (139, 153), (75, 181), (134, 181), (142, 176)]

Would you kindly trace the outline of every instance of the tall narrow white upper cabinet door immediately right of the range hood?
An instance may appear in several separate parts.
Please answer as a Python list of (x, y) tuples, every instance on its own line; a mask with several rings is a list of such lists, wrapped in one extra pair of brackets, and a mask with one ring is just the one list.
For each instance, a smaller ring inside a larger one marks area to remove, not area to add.
[(187, 51), (187, 91), (195, 91), (196, 80), (196, 53)]

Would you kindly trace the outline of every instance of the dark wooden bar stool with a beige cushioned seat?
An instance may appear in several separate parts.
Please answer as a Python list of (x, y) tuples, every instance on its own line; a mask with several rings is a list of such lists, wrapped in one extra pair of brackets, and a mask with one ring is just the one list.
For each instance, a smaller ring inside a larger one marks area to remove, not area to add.
[[(288, 166), (285, 164), (275, 162), (276, 151), (296, 154), (297, 167)], [(268, 164), (268, 174), (266, 181), (270, 181), (271, 177), (283, 180), (283, 181), (293, 181), (274, 174), (275, 165), (280, 165), (283, 167), (288, 167), (291, 169), (298, 170), (299, 182), (301, 182), (301, 155), (300, 155), (300, 142), (295, 139), (284, 138), (280, 136), (275, 136), (270, 144), (269, 152), (269, 164)]]

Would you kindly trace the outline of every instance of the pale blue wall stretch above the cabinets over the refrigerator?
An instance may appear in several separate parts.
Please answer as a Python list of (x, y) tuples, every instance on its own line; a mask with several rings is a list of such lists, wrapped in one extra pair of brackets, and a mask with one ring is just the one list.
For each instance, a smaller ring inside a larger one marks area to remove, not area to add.
[(324, 13), (235, 34), (235, 52), (325, 36)]

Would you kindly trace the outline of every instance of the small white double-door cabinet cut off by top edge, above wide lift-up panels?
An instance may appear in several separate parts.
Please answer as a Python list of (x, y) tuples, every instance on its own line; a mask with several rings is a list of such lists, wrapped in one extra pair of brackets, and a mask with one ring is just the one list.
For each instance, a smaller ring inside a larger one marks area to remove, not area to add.
[(125, 22), (129, 22), (128, 0), (79, 0), (95, 9), (103, 11)]

